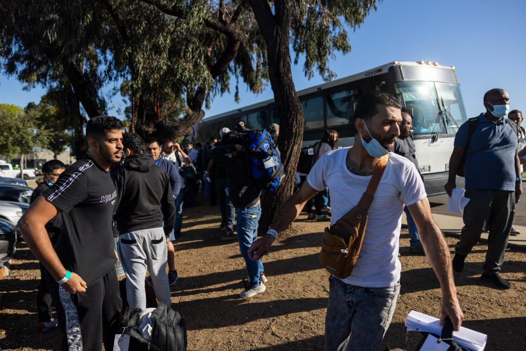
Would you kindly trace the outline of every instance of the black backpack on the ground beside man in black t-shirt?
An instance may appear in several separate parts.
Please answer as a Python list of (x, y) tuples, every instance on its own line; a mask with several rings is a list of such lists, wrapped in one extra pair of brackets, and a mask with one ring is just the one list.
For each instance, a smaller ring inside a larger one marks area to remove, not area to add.
[(148, 341), (139, 329), (140, 308), (126, 308), (123, 319), (123, 334), (130, 336), (129, 350), (137, 351), (185, 351), (186, 323), (179, 312), (160, 302), (151, 315), (154, 322)]

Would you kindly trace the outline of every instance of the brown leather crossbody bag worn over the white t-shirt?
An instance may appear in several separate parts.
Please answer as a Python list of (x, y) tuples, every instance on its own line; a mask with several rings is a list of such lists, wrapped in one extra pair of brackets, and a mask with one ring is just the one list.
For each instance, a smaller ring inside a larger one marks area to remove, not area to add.
[(338, 278), (347, 278), (355, 267), (367, 227), (367, 211), (373, 195), (386, 169), (389, 154), (383, 156), (375, 165), (367, 190), (360, 202), (347, 214), (338, 219), (330, 228), (325, 228), (321, 246), (320, 262), (323, 268)]

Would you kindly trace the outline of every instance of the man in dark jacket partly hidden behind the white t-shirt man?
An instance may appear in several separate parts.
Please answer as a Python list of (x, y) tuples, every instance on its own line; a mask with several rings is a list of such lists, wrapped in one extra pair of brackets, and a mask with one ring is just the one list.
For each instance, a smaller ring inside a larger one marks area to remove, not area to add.
[[(403, 156), (411, 161), (418, 169), (418, 161), (416, 149), (413, 143), (413, 125), (412, 125), (412, 111), (411, 107), (402, 107), (402, 124), (400, 125), (400, 136), (397, 138), (395, 144), (395, 154)], [(414, 224), (413, 217), (409, 208), (405, 207), (403, 212), (406, 213), (407, 228), (409, 230), (409, 252), (412, 254), (424, 254), (424, 249), (418, 238), (418, 228)]]

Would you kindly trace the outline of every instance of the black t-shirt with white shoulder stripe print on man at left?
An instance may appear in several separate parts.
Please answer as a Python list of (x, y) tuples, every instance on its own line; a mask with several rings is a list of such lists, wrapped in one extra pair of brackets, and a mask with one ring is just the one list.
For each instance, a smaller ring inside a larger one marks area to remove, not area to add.
[(55, 246), (64, 267), (89, 286), (115, 265), (112, 217), (117, 193), (109, 172), (83, 158), (42, 194), (62, 210)]

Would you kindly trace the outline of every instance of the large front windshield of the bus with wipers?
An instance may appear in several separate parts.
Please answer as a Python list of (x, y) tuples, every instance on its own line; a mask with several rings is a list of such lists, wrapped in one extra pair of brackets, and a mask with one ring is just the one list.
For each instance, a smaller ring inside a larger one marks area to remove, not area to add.
[(402, 106), (413, 108), (414, 136), (433, 133), (453, 135), (466, 121), (458, 84), (397, 82), (396, 93)]

